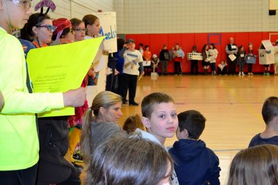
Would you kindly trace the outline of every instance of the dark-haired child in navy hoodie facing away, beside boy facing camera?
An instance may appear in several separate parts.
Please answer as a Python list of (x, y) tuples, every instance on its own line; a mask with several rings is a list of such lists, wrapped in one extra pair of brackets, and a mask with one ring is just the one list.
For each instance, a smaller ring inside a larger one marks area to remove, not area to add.
[(179, 113), (179, 139), (169, 150), (174, 160), (174, 170), (179, 184), (220, 184), (219, 159), (199, 140), (204, 131), (206, 118), (199, 111)]

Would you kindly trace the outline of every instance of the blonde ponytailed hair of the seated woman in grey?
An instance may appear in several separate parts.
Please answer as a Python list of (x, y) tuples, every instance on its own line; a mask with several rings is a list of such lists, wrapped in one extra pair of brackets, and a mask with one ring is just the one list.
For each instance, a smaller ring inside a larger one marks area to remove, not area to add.
[[(85, 111), (83, 115), (83, 129), (80, 136), (81, 151), (86, 158), (90, 158), (92, 154), (92, 122), (99, 117), (99, 108), (109, 108), (119, 102), (122, 102), (122, 97), (111, 91), (103, 91), (96, 95), (92, 101), (92, 106)], [(94, 116), (92, 115), (94, 114)]]

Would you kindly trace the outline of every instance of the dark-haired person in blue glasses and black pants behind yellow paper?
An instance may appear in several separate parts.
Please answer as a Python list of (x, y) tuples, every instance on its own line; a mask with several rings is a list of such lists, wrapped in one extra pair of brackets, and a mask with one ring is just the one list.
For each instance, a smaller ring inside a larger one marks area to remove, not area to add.
[[(56, 31), (48, 15), (35, 13), (30, 16), (21, 33), (23, 39), (33, 42), (35, 47), (47, 47)], [(57, 33), (56, 33), (57, 34)], [(69, 116), (38, 118), (40, 138), (40, 161), (37, 185), (79, 185), (80, 169), (65, 158), (68, 149)]]

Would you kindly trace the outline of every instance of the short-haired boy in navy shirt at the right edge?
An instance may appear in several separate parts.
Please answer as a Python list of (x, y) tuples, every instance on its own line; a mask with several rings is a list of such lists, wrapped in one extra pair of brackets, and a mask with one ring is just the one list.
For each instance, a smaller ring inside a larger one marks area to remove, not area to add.
[(268, 97), (261, 110), (265, 121), (265, 131), (256, 134), (248, 147), (271, 144), (278, 145), (278, 97)]

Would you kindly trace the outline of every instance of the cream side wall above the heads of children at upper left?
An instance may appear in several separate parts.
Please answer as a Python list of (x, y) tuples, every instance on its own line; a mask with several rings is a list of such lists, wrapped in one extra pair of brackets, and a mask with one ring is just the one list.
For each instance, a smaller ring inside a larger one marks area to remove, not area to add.
[[(32, 6), (40, 0), (33, 0)], [(113, 11), (113, 0), (53, 0), (56, 4), (56, 10), (54, 13), (49, 11), (49, 16), (53, 19), (65, 17), (68, 19), (79, 18), (82, 19), (84, 15), (96, 13), (97, 10), (104, 12)], [(44, 11), (47, 8), (44, 8)], [(32, 8), (32, 10), (34, 10)]]

